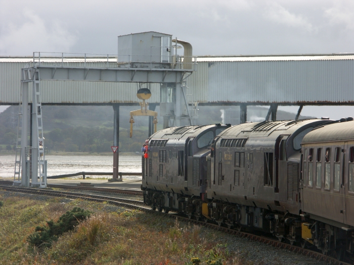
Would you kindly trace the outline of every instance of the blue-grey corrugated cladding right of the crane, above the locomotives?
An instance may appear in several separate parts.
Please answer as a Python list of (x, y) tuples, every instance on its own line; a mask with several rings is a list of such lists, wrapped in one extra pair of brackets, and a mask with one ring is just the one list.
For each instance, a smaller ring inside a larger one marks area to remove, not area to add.
[(205, 64), (207, 102), (354, 102), (354, 60)]

